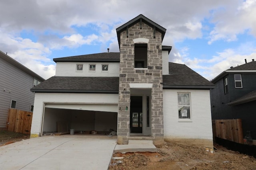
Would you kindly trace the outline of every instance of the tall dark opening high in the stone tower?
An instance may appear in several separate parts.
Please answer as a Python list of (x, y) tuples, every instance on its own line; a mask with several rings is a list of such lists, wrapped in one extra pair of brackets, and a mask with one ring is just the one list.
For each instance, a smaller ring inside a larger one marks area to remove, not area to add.
[(148, 68), (148, 44), (134, 44), (134, 68)]

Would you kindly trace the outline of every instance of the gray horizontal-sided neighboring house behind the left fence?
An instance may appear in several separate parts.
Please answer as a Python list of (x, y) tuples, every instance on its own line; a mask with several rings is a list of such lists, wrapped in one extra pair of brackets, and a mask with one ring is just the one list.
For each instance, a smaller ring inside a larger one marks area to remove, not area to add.
[(0, 51), (0, 129), (6, 128), (8, 109), (33, 111), (35, 93), (30, 88), (44, 81)]

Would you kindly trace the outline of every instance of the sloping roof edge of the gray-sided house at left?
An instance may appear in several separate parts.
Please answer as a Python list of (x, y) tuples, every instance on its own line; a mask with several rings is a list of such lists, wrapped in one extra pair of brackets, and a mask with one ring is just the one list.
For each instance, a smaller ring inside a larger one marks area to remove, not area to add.
[(25, 67), (24, 65), (20, 64), (18, 61), (12, 59), (12, 57), (6, 55), (5, 53), (3, 53), (2, 51), (0, 51), (0, 58), (4, 59), (5, 61), (7, 61), (8, 63), (14, 65), (15, 67), (19, 68), (20, 70), (26, 72), (27, 74), (29, 74), (30, 76), (36, 78), (37, 80), (39, 80), (40, 82), (44, 81), (44, 78), (42, 78), (41, 76), (39, 76), (38, 74), (36, 74), (35, 72), (33, 72), (32, 70), (28, 69), (27, 67)]

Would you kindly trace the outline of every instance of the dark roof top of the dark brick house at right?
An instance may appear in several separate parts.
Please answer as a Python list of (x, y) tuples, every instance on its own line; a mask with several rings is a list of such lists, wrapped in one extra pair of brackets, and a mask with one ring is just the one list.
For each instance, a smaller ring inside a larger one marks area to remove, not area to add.
[(217, 82), (224, 76), (226, 76), (229, 73), (247, 73), (247, 72), (256, 72), (256, 61), (251, 61), (249, 63), (242, 64), (240, 66), (236, 66), (233, 68), (230, 68), (228, 70), (225, 70), (224, 72), (220, 73), (218, 76), (216, 76), (214, 79), (212, 79), (212, 83)]

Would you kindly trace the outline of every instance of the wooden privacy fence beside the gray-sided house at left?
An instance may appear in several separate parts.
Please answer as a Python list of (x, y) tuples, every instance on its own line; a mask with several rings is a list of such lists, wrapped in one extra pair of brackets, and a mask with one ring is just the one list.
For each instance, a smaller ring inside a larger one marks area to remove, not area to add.
[(29, 135), (33, 112), (9, 109), (6, 130)]

